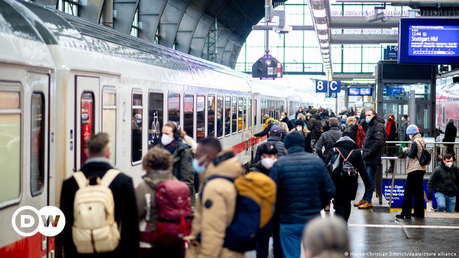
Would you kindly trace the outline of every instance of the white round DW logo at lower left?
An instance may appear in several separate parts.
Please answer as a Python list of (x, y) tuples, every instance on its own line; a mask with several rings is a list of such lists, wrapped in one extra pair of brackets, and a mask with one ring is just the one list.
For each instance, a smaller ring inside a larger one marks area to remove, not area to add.
[(14, 231), (22, 237), (30, 237), (37, 232), (46, 237), (54, 237), (64, 229), (65, 216), (55, 206), (46, 206), (40, 210), (22, 206), (14, 212), (11, 223)]

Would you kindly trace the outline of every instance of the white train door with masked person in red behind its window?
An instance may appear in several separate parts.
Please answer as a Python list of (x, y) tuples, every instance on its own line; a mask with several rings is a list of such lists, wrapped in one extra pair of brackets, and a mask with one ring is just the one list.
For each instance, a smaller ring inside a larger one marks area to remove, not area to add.
[(86, 143), (99, 131), (99, 78), (76, 77), (75, 91), (75, 168), (80, 170), (86, 159)]

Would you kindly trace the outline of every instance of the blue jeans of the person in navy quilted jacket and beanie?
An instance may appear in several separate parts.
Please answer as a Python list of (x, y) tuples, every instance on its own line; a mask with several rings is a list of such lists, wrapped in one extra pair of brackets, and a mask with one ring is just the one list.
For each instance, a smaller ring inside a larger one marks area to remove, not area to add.
[(280, 243), (284, 258), (300, 258), (305, 224), (280, 224)]

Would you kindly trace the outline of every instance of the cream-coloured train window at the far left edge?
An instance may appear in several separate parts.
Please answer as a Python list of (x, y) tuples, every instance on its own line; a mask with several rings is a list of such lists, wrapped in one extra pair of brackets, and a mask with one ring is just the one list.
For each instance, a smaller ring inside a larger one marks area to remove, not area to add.
[(21, 193), (21, 102), (19, 92), (0, 91), (0, 203)]

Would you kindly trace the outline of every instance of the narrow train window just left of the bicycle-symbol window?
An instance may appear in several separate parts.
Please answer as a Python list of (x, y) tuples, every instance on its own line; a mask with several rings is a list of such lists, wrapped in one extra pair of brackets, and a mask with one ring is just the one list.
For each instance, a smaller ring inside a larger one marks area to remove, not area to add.
[(142, 159), (142, 94), (132, 94), (132, 163)]

